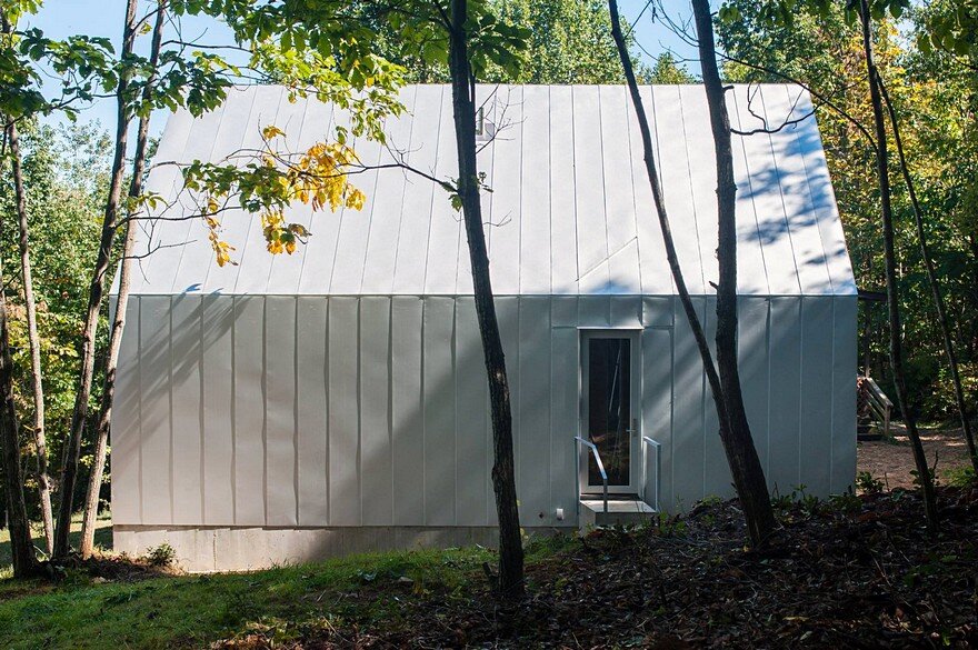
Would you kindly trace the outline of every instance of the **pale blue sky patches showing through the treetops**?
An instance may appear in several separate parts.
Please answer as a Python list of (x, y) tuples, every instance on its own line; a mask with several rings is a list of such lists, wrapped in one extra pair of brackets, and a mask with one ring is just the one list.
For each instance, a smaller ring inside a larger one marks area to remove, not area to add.
[[(619, 0), (622, 16), (635, 23), (633, 32), (636, 41), (641, 46), (642, 59), (651, 63), (655, 56), (666, 50), (673, 51), (680, 60), (693, 59), (696, 51), (653, 16), (652, 8), (647, 8), (647, 4), (648, 0)], [(663, 0), (663, 4), (673, 20), (681, 22), (690, 19), (692, 10), (686, 0)], [(78, 33), (108, 37), (118, 50), (124, 7), (124, 0), (47, 0), (38, 14), (26, 19), (22, 26), (39, 28), (47, 37), (53, 39)], [(638, 22), (635, 22), (636, 19)], [(186, 19), (183, 37), (187, 39), (200, 37), (203, 42), (211, 43), (231, 41), (230, 30), (224, 24), (202, 18)], [(139, 39), (138, 42), (148, 47), (149, 38)], [(693, 73), (699, 72), (697, 64), (687, 63), (687, 67)], [(54, 88), (56, 80), (51, 79), (49, 83)], [(114, 100), (99, 100), (79, 116), (79, 122), (98, 120), (103, 129), (111, 130), (116, 121), (114, 111)], [(51, 118), (52, 121), (59, 119), (62, 118)], [(153, 133), (162, 131), (164, 123), (166, 114), (154, 116), (151, 121)]]

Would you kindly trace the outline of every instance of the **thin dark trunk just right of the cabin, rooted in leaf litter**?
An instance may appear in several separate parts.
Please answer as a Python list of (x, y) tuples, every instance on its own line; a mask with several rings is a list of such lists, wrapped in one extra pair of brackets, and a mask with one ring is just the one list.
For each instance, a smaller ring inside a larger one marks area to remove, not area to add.
[(894, 371), (894, 383), (897, 388), (897, 403), (904, 416), (904, 424), (907, 427), (907, 436), (910, 438), (910, 448), (914, 451), (914, 462), (917, 466), (927, 527), (931, 532), (937, 532), (938, 516), (937, 500), (934, 493), (934, 479), (930, 476), (930, 467), (927, 464), (927, 456), (924, 453), (924, 444), (920, 442), (917, 421), (910, 412), (907, 378), (904, 371), (902, 329), (900, 326), (900, 302), (897, 286), (897, 253), (894, 243), (894, 211), (890, 194), (889, 151), (887, 148), (882, 98), (879, 90), (879, 71), (876, 68), (872, 54), (872, 30), (870, 28), (869, 4), (867, 0), (859, 0), (859, 19), (862, 23), (862, 49), (866, 56), (869, 96), (872, 101), (872, 121), (876, 127), (876, 166), (877, 180), (879, 182), (880, 213), (882, 217), (887, 307), (889, 308), (890, 367)]

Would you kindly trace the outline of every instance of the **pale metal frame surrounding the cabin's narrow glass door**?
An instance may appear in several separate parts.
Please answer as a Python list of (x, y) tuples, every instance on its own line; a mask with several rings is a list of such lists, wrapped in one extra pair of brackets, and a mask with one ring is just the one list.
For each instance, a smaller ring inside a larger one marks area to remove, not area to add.
[[(642, 481), (641, 472), (641, 329), (637, 328), (579, 328), (578, 358), (578, 436), (588, 440), (588, 388), (590, 341), (593, 339), (628, 339), (629, 341), (629, 449), (628, 449), (628, 484), (608, 486), (610, 494), (638, 494)], [(578, 486), (580, 496), (600, 494), (602, 486), (588, 482), (588, 463), (590, 449), (578, 444)]]

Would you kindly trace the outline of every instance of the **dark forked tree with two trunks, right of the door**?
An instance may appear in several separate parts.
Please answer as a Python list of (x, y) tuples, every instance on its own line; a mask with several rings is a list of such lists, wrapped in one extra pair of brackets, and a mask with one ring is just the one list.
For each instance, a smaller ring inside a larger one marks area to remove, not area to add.
[[(689, 322), (690, 329), (692, 330), (697, 348), (699, 349), (700, 358), (702, 359), (703, 370), (706, 371), (707, 381), (709, 382), (710, 391), (713, 398), (713, 404), (717, 409), (717, 416), (720, 424), (720, 440), (722, 441), (723, 450), (727, 453), (727, 460), (730, 464), (730, 471), (734, 476), (734, 482), (735, 487), (737, 488), (737, 493), (740, 497), (741, 504), (744, 506), (744, 514), (745, 519), (747, 520), (748, 533), (750, 534), (751, 542), (755, 546), (759, 547), (766, 543), (767, 539), (774, 531), (775, 518), (771, 511), (767, 484), (764, 478), (764, 470), (761, 469), (760, 461), (757, 458), (757, 450), (755, 449), (754, 441), (750, 438), (750, 429), (747, 424), (747, 417), (744, 413), (744, 401), (740, 397), (740, 384), (739, 379), (737, 378), (736, 369), (736, 223), (734, 223), (734, 210), (731, 204), (734, 192), (736, 191), (736, 186), (732, 186), (732, 158), (729, 157), (729, 123), (726, 127), (727, 136), (725, 148), (722, 138), (723, 118), (721, 114), (725, 111), (719, 110), (719, 107), (716, 107), (711, 103), (710, 116), (711, 124), (713, 126), (713, 136), (715, 140), (719, 140), (716, 144), (718, 149), (717, 164), (723, 164), (723, 149), (726, 149), (726, 156), (728, 157), (726, 161), (728, 164), (730, 164), (729, 170), (725, 170), (725, 172), (718, 174), (718, 181), (721, 183), (718, 192), (725, 192), (723, 198), (721, 198), (719, 202), (720, 210), (722, 210), (719, 224), (720, 250), (722, 251), (722, 257), (720, 261), (720, 289), (718, 290), (717, 300), (718, 317), (722, 318), (722, 323), (718, 322), (717, 328), (718, 356), (720, 356), (720, 348), (722, 348), (722, 359), (727, 364), (726, 369), (721, 370), (723, 372), (723, 378), (721, 379), (720, 374), (717, 372), (717, 366), (713, 363), (712, 353), (710, 352), (709, 343), (707, 342), (706, 334), (703, 333), (702, 323), (699, 320), (699, 316), (696, 313), (696, 307), (692, 303), (692, 299), (689, 294), (689, 289), (686, 286), (686, 280), (682, 276), (682, 269), (679, 266), (679, 258), (676, 254), (676, 244), (672, 240), (672, 231), (669, 223), (669, 217), (666, 212), (665, 199), (662, 197), (662, 186), (659, 179), (659, 173), (653, 157), (651, 129), (649, 128), (648, 117), (646, 116), (645, 107), (642, 106), (641, 94), (638, 90), (638, 82), (636, 81), (635, 72), (632, 71), (631, 62), (628, 57), (625, 38), (621, 33), (621, 26), (618, 14), (618, 2), (616, 0), (608, 0), (608, 8), (611, 14), (612, 34), (615, 37), (616, 43), (618, 44), (619, 58), (621, 60), (622, 68), (625, 69), (625, 77), (628, 81), (629, 93), (631, 94), (632, 106), (635, 107), (636, 117), (638, 118), (639, 131), (642, 139), (642, 152), (645, 157), (646, 172), (649, 177), (649, 184), (652, 188), (652, 200), (655, 202), (656, 212), (658, 214), (659, 227), (662, 231), (662, 240), (666, 244), (666, 257), (669, 261), (669, 269), (672, 273), (672, 279), (676, 282), (676, 288), (679, 292), (679, 300), (682, 304), (683, 312), (686, 313), (686, 319)], [(708, 12), (709, 9), (707, 9), (707, 13)], [(707, 18), (707, 20), (709, 22), (709, 18)], [(699, 20), (697, 21), (697, 24), (698, 27), (700, 26)], [(700, 34), (701, 43), (703, 42), (705, 36), (706, 34), (702, 33)], [(719, 76), (710, 74), (709, 50), (711, 49), (711, 43), (712, 31), (710, 29), (709, 43), (707, 43), (706, 46), (707, 50), (701, 50), (701, 59), (707, 59), (706, 61), (702, 61), (705, 80), (709, 78), (710, 83), (713, 84), (712, 92), (719, 92), (722, 96), (722, 89), (719, 88)], [(716, 70), (716, 59), (713, 59), (712, 62), (712, 70)], [(717, 113), (716, 117), (715, 112)], [(715, 120), (718, 120), (719, 123), (717, 123)], [(734, 310), (732, 318), (729, 312), (730, 309)], [(732, 332), (730, 331), (731, 328), (734, 330)], [(732, 368), (730, 367), (731, 348), (734, 354)], [(728, 387), (730, 389), (729, 394), (725, 390)], [(731, 404), (734, 404), (734, 409), (736, 410), (738, 408), (736, 403), (738, 400), (740, 414), (731, 416)]]

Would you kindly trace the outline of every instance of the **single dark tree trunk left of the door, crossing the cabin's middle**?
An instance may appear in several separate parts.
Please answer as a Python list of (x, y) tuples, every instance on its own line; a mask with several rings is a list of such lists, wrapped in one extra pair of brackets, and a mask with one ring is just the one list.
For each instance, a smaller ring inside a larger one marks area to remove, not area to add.
[(525, 591), (523, 548), (512, 458), (512, 413), (502, 339), (499, 336), (492, 283), (489, 279), (486, 234), (482, 231), (480, 181), (476, 162), (476, 88), (468, 54), (467, 11), (466, 0), (451, 0), (451, 22), (447, 26), (452, 116), (459, 162), (458, 196), (469, 242), (476, 314), (489, 379), (495, 460), (492, 489), (496, 492), (496, 512), (499, 518), (499, 592), (506, 598), (519, 598)]

